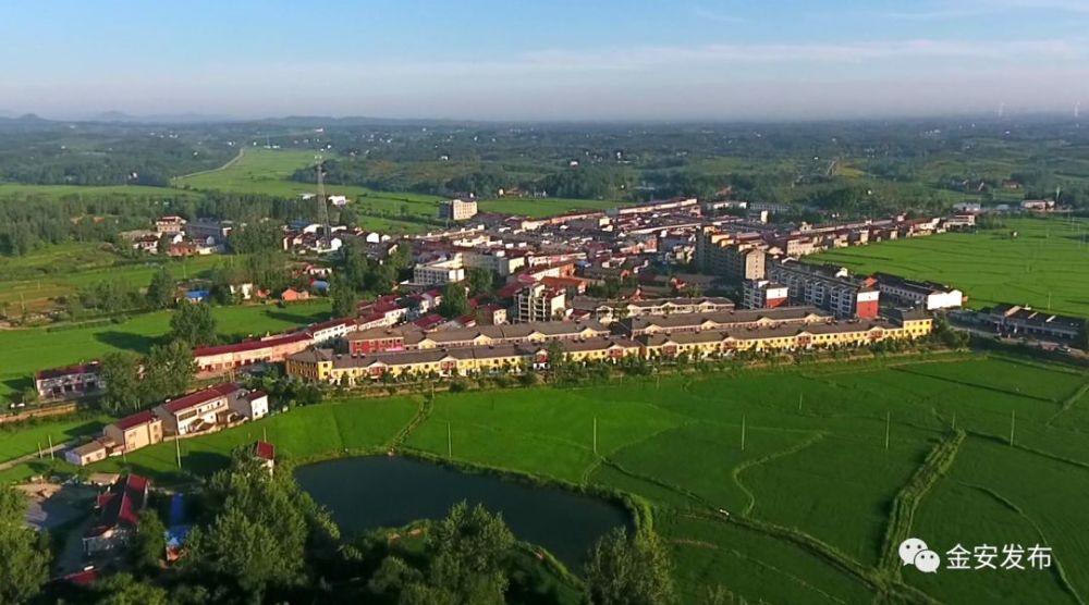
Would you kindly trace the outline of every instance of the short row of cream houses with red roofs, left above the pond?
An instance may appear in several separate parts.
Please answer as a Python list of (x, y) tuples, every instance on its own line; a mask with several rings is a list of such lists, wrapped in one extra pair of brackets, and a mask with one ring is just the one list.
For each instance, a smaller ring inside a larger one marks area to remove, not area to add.
[(64, 458), (85, 466), (162, 443), (168, 436), (205, 433), (257, 420), (268, 412), (268, 395), (264, 392), (222, 383), (111, 422), (102, 429), (101, 436), (69, 449)]

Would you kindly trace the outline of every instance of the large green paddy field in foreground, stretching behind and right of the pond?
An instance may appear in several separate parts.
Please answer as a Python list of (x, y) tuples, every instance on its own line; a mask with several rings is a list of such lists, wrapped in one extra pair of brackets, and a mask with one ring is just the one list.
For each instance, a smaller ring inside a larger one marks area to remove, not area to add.
[[(1084, 603), (1087, 391), (1082, 371), (962, 355), (440, 394), (403, 447), (446, 456), (449, 424), (456, 461), (643, 496), (686, 603), (717, 584), (750, 603)], [(265, 432), (295, 457), (384, 448), (419, 404), (295, 409), (187, 440), (182, 465), (208, 472)], [(935, 449), (947, 467), (928, 462)], [(173, 456), (162, 444), (129, 464), (169, 482)], [(1039, 543), (1054, 565), (925, 576), (890, 564), (907, 535), (942, 555)]]

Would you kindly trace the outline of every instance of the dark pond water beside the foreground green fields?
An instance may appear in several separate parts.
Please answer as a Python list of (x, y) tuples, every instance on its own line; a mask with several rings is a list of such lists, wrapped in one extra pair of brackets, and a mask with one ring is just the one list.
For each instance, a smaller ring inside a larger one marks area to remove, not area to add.
[(521, 540), (539, 544), (568, 566), (578, 566), (597, 539), (631, 526), (612, 503), (556, 487), (461, 472), (412, 458), (365, 456), (299, 467), (298, 484), (329, 509), (345, 534), (441, 519), (461, 501), (502, 513)]

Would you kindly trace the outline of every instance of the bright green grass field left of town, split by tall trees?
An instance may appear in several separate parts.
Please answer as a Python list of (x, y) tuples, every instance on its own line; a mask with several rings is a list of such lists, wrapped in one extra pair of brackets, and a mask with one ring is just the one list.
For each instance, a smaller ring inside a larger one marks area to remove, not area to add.
[[(264, 335), (328, 319), (329, 302), (217, 307), (213, 313), (220, 334)], [(36, 370), (88, 361), (115, 350), (145, 354), (169, 331), (169, 311), (94, 328), (0, 331), (0, 397), (29, 386)]]

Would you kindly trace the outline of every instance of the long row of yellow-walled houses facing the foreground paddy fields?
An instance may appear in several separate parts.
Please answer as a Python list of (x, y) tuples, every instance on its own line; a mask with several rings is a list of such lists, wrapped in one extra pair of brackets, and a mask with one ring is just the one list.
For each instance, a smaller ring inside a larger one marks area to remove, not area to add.
[[(573, 362), (619, 362), (625, 358), (659, 359), (680, 355), (706, 358), (736, 351), (806, 350), (866, 346), (888, 339), (915, 339), (930, 334), (931, 318), (905, 311), (892, 319), (869, 321), (760, 322), (757, 326), (683, 331), (640, 331), (636, 335), (592, 334), (555, 338)], [(439, 378), (498, 374), (514, 370), (543, 370), (549, 363), (549, 342), (519, 341), (469, 344), (412, 350), (386, 349), (362, 355), (341, 355), (314, 348), (292, 355), (289, 376), (332, 384), (357, 384), (384, 376)]]

